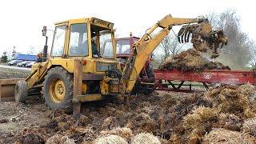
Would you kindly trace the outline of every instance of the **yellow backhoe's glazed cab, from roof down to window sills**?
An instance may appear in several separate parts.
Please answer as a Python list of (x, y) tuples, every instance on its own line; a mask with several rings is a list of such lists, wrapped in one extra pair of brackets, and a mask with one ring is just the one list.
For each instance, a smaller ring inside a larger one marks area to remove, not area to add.
[(98, 18), (58, 22), (50, 57), (115, 59), (113, 26), (113, 23)]

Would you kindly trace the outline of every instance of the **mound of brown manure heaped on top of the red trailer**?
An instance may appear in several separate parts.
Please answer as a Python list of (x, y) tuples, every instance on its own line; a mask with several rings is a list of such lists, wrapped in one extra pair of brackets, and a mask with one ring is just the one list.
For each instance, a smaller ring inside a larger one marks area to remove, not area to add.
[(194, 49), (182, 51), (182, 53), (175, 55), (173, 58), (166, 58), (166, 60), (159, 66), (163, 70), (182, 70), (182, 71), (200, 71), (200, 70), (230, 70), (230, 67), (224, 66), (220, 62), (210, 62), (203, 58), (202, 55)]

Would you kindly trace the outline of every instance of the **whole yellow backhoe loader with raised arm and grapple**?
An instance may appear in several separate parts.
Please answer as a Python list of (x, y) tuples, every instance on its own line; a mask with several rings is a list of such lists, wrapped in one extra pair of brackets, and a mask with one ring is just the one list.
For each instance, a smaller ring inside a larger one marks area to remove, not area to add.
[[(81, 102), (129, 96), (146, 60), (173, 26), (182, 26), (179, 39), (210, 43), (216, 38), (207, 19), (173, 18), (166, 15), (133, 45), (133, 52), (122, 69), (116, 60), (114, 23), (98, 18), (71, 19), (55, 23), (54, 39), (47, 56), (47, 37), (43, 58), (32, 66), (31, 74), (15, 86), (16, 102), (24, 102), (30, 90), (42, 88), (50, 109), (78, 114)], [(150, 34), (161, 28), (154, 37)], [(46, 26), (42, 30), (46, 36)], [(198, 44), (198, 43), (197, 43)]]

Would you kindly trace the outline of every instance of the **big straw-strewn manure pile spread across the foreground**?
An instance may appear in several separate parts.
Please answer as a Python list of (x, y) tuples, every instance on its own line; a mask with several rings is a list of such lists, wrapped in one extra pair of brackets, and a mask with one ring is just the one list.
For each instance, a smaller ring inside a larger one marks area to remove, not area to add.
[(244, 85), (205, 94), (155, 92), (128, 103), (86, 103), (82, 118), (51, 111), (47, 126), (15, 137), (17, 143), (255, 143), (254, 98), (254, 86)]

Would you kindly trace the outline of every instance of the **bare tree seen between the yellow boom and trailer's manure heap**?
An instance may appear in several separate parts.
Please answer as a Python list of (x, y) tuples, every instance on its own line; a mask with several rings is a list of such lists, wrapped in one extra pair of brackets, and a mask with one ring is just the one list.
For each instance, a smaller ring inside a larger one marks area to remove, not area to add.
[(167, 57), (173, 57), (178, 54), (182, 49), (182, 46), (178, 43), (175, 36), (168, 34), (166, 38), (159, 45), (164, 52), (164, 59)]

